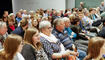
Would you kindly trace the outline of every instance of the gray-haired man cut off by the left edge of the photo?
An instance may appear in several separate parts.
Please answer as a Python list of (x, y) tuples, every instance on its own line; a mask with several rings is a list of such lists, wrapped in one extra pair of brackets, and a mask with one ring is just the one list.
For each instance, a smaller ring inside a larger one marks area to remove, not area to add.
[(7, 26), (5, 22), (0, 22), (0, 49), (4, 43), (4, 39), (7, 37)]

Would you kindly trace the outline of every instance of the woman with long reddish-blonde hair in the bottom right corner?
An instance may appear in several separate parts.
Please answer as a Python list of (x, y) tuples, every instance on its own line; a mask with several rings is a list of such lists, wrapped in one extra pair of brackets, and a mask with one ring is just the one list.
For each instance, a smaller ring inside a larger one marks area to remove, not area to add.
[(105, 54), (105, 39), (91, 38), (88, 44), (88, 55), (84, 60), (104, 60), (102, 59), (103, 54)]

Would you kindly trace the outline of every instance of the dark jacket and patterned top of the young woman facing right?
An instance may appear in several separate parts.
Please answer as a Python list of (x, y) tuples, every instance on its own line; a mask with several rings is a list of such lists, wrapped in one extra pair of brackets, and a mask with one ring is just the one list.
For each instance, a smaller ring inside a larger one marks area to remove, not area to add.
[(37, 51), (31, 44), (25, 44), (21, 53), (25, 60), (48, 60), (43, 48)]

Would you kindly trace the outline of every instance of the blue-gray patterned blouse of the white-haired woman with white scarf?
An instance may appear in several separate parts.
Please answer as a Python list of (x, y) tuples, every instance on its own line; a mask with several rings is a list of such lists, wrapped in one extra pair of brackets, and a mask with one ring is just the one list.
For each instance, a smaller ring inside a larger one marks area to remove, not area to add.
[(60, 44), (61, 42), (58, 40), (56, 43), (49, 42), (46, 38), (40, 37), (40, 40), (43, 44), (43, 48), (48, 55), (49, 60), (52, 60), (51, 56), (53, 53), (58, 53), (61, 51)]

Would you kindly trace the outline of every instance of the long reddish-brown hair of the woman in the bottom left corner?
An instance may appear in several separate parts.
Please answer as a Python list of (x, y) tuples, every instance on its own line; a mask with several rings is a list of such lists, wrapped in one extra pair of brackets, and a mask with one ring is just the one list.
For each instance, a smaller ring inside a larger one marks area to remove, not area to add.
[(12, 60), (21, 42), (22, 37), (16, 34), (10, 34), (4, 42), (4, 50), (0, 52), (0, 60)]

